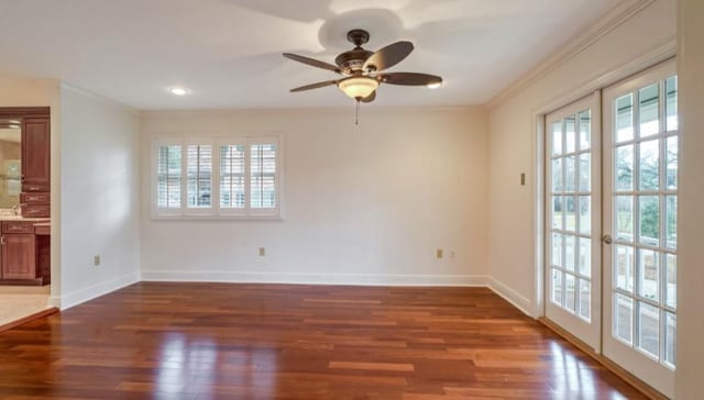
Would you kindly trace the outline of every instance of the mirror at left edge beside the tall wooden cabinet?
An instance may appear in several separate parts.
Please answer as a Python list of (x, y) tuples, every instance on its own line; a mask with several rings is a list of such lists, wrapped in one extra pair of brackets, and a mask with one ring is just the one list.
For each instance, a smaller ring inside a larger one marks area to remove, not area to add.
[(0, 209), (20, 203), (22, 191), (22, 120), (0, 119)]

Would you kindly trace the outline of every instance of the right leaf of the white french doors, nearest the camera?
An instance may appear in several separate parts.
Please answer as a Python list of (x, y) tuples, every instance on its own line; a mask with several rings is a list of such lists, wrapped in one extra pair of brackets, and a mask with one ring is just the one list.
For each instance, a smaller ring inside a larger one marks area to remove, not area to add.
[(604, 91), (603, 354), (674, 392), (678, 88), (668, 63)]

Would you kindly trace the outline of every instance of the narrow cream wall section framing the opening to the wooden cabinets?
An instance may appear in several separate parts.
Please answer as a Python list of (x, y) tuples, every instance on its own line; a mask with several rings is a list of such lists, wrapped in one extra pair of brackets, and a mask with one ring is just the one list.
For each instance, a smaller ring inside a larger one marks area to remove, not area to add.
[[(50, 107), (52, 147), (52, 277), (61, 276), (61, 82), (0, 74), (0, 107)], [(53, 279), (52, 301), (61, 298), (61, 279)]]

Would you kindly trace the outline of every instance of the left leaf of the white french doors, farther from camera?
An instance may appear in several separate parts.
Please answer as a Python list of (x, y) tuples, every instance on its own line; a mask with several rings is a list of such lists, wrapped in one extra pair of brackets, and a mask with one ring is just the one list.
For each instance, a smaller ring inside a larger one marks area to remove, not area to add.
[(600, 95), (547, 115), (546, 316), (594, 349), (601, 335)]

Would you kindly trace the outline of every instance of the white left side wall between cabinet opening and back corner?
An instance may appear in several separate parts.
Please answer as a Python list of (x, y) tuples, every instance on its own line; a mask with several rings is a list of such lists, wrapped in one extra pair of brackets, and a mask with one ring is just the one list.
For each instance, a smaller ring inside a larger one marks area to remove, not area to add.
[[(139, 280), (140, 116), (68, 86), (62, 87), (61, 107), (65, 309)], [(94, 255), (100, 255), (99, 266)]]

